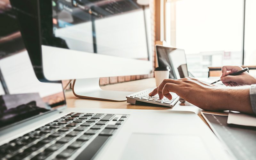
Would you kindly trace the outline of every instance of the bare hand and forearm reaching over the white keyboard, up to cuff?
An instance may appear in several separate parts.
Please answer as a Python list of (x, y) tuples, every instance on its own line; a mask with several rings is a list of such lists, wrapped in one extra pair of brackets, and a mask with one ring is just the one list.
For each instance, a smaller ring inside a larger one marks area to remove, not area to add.
[(164, 79), (149, 96), (158, 93), (160, 99), (166, 97), (171, 100), (170, 92), (174, 92), (180, 98), (204, 110), (233, 110), (253, 114), (249, 89), (250, 86), (223, 88), (188, 77), (178, 80)]

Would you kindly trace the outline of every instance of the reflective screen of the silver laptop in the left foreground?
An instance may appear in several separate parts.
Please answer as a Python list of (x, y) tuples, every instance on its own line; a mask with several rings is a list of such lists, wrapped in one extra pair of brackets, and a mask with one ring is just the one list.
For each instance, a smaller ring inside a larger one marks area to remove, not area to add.
[[(9, 0), (0, 4), (0, 129), (66, 104), (61, 83), (40, 82)], [(39, 59), (39, 58), (38, 58)], [(34, 59), (36, 60), (36, 59)]]

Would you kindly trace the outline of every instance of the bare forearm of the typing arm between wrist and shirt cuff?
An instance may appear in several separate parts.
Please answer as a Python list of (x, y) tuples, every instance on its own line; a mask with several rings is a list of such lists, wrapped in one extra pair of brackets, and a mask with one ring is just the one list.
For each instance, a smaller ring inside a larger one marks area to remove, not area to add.
[(250, 86), (220, 89), (218, 103), (225, 110), (254, 114), (250, 101)]

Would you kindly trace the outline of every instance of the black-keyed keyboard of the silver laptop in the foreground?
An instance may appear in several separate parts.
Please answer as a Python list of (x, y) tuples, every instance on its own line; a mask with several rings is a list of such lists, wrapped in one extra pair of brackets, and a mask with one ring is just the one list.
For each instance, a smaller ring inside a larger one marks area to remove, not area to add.
[(0, 158), (91, 159), (128, 116), (69, 113), (0, 146)]

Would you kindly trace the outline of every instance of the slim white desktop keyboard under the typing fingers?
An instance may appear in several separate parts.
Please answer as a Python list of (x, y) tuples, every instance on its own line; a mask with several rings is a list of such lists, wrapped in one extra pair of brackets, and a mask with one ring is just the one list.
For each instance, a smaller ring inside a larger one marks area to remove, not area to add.
[(128, 95), (128, 96), (126, 96), (127, 103), (135, 104), (136, 101), (141, 101), (141, 102), (162, 105), (162, 106), (166, 106), (166, 107), (173, 107), (174, 104), (179, 100), (179, 96), (176, 93), (172, 93), (172, 92), (170, 92), (172, 95), (172, 100), (169, 100), (165, 97), (162, 100), (160, 100), (158, 94), (151, 97), (148, 94), (150, 92), (152, 92), (153, 90), (154, 90), (154, 88), (151, 88), (151, 89), (146, 89), (144, 91), (140, 91), (140, 92)]

